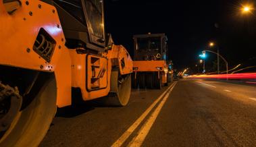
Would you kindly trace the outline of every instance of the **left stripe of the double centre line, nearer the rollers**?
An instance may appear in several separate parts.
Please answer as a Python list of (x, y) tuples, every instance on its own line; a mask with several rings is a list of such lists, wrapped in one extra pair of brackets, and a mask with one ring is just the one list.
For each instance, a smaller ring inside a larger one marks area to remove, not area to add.
[(151, 104), (151, 106), (142, 115), (140, 115), (140, 117), (138, 117), (138, 119), (124, 132), (124, 134), (122, 134), (122, 136), (120, 136), (120, 138), (118, 138), (118, 140), (116, 140), (116, 142), (114, 142), (112, 144), (111, 147), (122, 146), (122, 144), (124, 144), (124, 142), (129, 138), (130, 134), (132, 134), (132, 132), (138, 127), (138, 125), (140, 125), (140, 123), (145, 119), (145, 117), (147, 117), (147, 115), (149, 115), (149, 113), (151, 112), (153, 107), (155, 107), (155, 105), (157, 105), (159, 100), (161, 100), (163, 98), (163, 96), (174, 86), (174, 84), (176, 84), (176, 82), (174, 82), (167, 90), (165, 90), (165, 92), (163, 92), (163, 94), (161, 94), (153, 102), (153, 104)]

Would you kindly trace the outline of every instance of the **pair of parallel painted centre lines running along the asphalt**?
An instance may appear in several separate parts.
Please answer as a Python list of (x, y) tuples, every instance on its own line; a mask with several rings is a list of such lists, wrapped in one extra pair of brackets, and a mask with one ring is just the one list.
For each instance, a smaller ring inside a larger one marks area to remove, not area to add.
[[(176, 86), (176, 83), (177, 82), (174, 82), (167, 90), (165, 90), (165, 92), (163, 92), (163, 94), (161, 94), (161, 96), (159, 96), (153, 102), (153, 104), (151, 104), (151, 106), (142, 115), (140, 115), (140, 117), (138, 117), (138, 119), (124, 132), (124, 134), (122, 134), (122, 136), (120, 136), (120, 138), (118, 138), (118, 140), (116, 140), (116, 142), (114, 142), (112, 144), (111, 147), (122, 146), (122, 144), (124, 144), (124, 142), (126, 142), (126, 140), (129, 138), (129, 136), (138, 127), (138, 125), (140, 125), (140, 123), (147, 117), (147, 115), (149, 115), (149, 113), (155, 107), (155, 105), (157, 105), (157, 103), (159, 103), (159, 105), (155, 108), (153, 113), (151, 113), (151, 116), (149, 117), (149, 119), (147, 119), (147, 121), (145, 121), (145, 124), (143, 124), (143, 126), (140, 128), (140, 130), (138, 131), (138, 134), (128, 144), (128, 146), (132, 146), (132, 147), (141, 146), (143, 144), (147, 134), (149, 133), (149, 130), (151, 129), (153, 123), (155, 122), (155, 119), (159, 115), (159, 112), (161, 111), (163, 105), (165, 104), (166, 100), (170, 96), (170, 93), (174, 89), (174, 86)], [(161, 100), (161, 102), (159, 102), (160, 100)]]

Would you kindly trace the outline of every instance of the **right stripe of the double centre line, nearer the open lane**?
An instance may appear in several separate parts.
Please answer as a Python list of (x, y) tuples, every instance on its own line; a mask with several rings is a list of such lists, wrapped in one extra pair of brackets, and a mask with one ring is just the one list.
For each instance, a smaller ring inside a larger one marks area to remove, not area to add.
[(166, 94), (163, 98), (163, 100), (161, 100), (160, 104), (157, 106), (157, 108), (155, 109), (155, 111), (153, 111), (153, 113), (151, 114), (151, 116), (149, 117), (149, 119), (145, 122), (145, 124), (140, 128), (140, 130), (138, 131), (137, 136), (135, 136), (132, 141), (130, 142), (130, 144), (128, 144), (128, 147), (140, 147), (145, 138), (147, 137), (147, 134), (149, 134), (149, 130), (151, 129), (151, 127), (153, 126), (155, 119), (157, 119), (157, 116), (159, 115), (161, 109), (163, 108), (163, 105), (165, 104), (166, 100), (168, 99), (168, 97), (170, 96), (172, 90), (174, 89), (176, 84), (174, 84), (174, 86), (172, 87), (172, 89), (170, 91), (168, 91), (168, 94)]

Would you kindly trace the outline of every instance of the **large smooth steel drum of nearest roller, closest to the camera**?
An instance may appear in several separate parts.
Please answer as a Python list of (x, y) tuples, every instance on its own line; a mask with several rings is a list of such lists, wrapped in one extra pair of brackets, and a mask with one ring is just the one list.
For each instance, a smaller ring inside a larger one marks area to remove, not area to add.
[(0, 146), (39, 146), (56, 113), (56, 90), (55, 78), (47, 80), (30, 104), (16, 113), (8, 129), (1, 132)]

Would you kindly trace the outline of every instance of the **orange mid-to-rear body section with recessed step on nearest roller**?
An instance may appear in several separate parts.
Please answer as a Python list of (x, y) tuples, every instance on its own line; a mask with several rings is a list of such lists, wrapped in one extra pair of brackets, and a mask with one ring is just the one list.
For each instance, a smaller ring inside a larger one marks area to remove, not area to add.
[[(110, 90), (112, 67), (118, 67), (121, 75), (132, 73), (132, 59), (121, 45), (102, 56), (77, 54), (70, 50), (72, 61), (72, 87), (80, 88), (83, 100), (92, 100), (107, 96)], [(125, 66), (122, 67), (122, 62)]]

